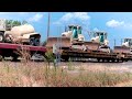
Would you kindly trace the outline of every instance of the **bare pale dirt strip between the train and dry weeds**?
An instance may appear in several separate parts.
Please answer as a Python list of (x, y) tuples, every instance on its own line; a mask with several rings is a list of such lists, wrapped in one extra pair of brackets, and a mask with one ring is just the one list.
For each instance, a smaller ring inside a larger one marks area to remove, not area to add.
[[(35, 66), (43, 66), (47, 63), (45, 62), (30, 62), (29, 64)], [(10, 66), (19, 66), (21, 65), (20, 62), (0, 62), (0, 66), (10, 65)], [(53, 66), (53, 63), (50, 65)], [(58, 63), (58, 67), (68, 68), (68, 66), (74, 67), (75, 69), (84, 69), (84, 70), (110, 70), (110, 72), (130, 72), (132, 73), (132, 62), (127, 63), (79, 63), (79, 62), (72, 62), (72, 63)]]

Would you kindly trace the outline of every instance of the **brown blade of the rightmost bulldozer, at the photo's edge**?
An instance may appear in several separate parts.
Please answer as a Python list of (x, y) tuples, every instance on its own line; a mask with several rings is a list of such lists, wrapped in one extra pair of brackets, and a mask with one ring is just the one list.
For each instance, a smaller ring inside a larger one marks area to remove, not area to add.
[(131, 53), (130, 47), (127, 46), (114, 46), (113, 53)]

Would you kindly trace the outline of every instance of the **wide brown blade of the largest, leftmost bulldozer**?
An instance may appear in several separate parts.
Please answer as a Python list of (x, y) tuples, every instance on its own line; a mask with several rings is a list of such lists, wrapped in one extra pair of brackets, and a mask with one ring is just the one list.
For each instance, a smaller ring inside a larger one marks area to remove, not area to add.
[(70, 47), (70, 37), (48, 37), (46, 47), (53, 47), (54, 44), (58, 44), (63, 47)]

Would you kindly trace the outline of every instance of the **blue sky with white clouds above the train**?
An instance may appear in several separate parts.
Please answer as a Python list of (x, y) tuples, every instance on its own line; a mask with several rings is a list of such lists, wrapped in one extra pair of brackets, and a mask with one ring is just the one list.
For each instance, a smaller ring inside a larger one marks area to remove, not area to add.
[[(11, 20), (26, 20), (36, 32), (41, 33), (41, 41), (46, 40), (47, 12), (0, 12), (0, 18)], [(109, 45), (121, 44), (121, 38), (132, 37), (132, 12), (51, 12), (50, 36), (61, 36), (65, 25), (79, 24), (87, 41), (87, 31), (108, 32)]]

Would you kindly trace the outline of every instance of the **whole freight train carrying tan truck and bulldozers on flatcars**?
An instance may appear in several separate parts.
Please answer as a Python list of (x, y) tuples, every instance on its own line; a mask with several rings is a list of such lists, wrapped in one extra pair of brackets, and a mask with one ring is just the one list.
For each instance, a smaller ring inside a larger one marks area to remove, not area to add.
[[(13, 26), (7, 31), (6, 20), (0, 20), (0, 61), (12, 57), (16, 61), (22, 56), (21, 51), (28, 51), (31, 57), (34, 54), (43, 55), (51, 52), (54, 56), (61, 55), (61, 61), (124, 62), (132, 59), (131, 42), (125, 40), (122, 46), (109, 47), (107, 32), (94, 32), (91, 41), (86, 41), (80, 25), (68, 25), (61, 37), (47, 37), (46, 45), (40, 45), (41, 34), (30, 24)], [(125, 46), (124, 46), (125, 45)], [(123, 48), (122, 48), (123, 47)]]

